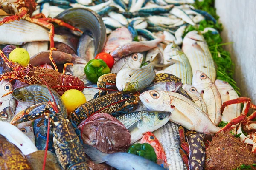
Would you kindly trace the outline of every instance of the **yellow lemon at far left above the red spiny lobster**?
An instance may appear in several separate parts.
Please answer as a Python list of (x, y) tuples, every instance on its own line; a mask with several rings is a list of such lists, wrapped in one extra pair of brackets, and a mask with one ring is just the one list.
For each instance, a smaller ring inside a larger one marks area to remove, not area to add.
[(15, 48), (9, 54), (9, 60), (12, 62), (17, 62), (23, 67), (26, 67), (29, 64), (30, 57), (28, 51), (24, 48)]

